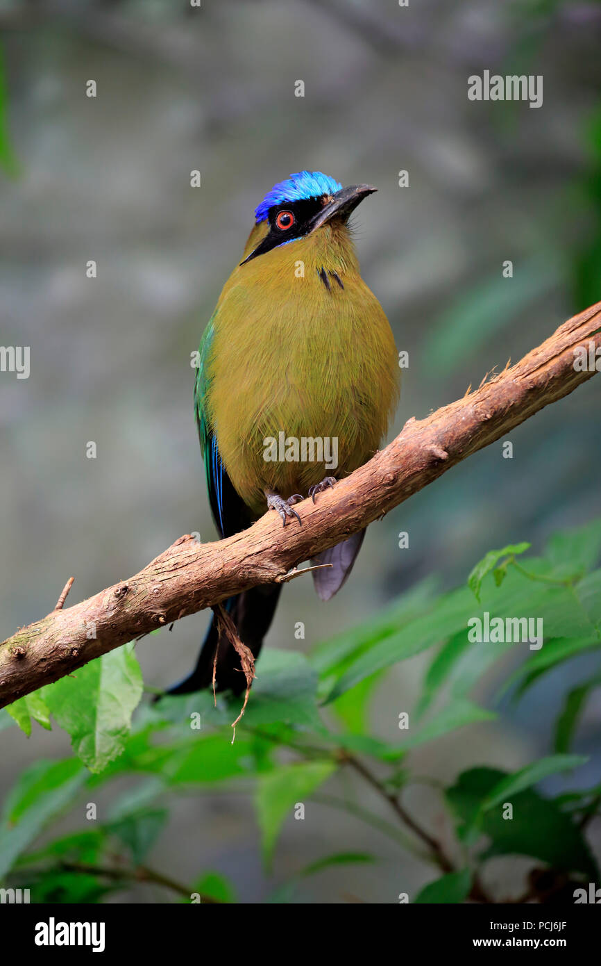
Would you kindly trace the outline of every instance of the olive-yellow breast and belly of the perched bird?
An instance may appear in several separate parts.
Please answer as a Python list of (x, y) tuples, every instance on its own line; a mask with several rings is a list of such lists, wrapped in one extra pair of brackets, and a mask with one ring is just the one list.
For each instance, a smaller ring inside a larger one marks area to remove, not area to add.
[(234, 270), (213, 318), (205, 410), (232, 484), (257, 516), (264, 490), (306, 496), (324, 476), (369, 460), (396, 407), (384, 311), (346, 230), (316, 235)]

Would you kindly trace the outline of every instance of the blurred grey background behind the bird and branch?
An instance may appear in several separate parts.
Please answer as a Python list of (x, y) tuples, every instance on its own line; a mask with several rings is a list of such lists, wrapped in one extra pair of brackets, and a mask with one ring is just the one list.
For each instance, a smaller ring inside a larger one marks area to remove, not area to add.
[[(70, 575), (74, 603), (182, 533), (214, 538), (190, 353), (254, 208), (290, 172), (379, 188), (357, 213), (356, 244), (409, 352), (391, 437), (601, 298), (600, 40), (597, 3), (0, 3), (20, 162), (17, 178), (0, 176), (0, 344), (31, 347), (29, 380), (0, 376), (0, 639), (51, 610)], [(467, 78), (485, 69), (542, 74), (542, 107), (469, 101)], [(371, 526), (329, 605), (310, 580), (287, 586), (268, 644), (298, 648), (304, 620), (309, 650), (425, 575), (463, 582), (491, 548), (538, 549), (601, 514), (597, 383), (515, 430), (512, 460), (494, 444)], [(188, 670), (206, 622), (197, 614), (141, 642), (150, 685)], [(416, 659), (388, 675), (375, 733), (395, 737), (422, 674)], [(427, 746), (417, 770), (446, 781), (471, 763), (514, 768), (547, 752), (564, 686), (545, 678), (528, 713)], [(488, 694), (485, 684), (478, 697)], [(598, 753), (600, 719), (589, 705), (577, 750)], [(58, 729), (35, 726), (29, 741), (3, 731), (0, 791), (29, 762), (68, 751)], [(435, 800), (413, 794), (408, 804), (444, 836)], [(432, 877), (377, 832), (315, 806), (287, 824), (266, 878), (251, 802), (235, 794), (182, 799), (149, 864), (182, 880), (217, 868), (253, 902), (326, 848), (382, 862), (308, 880), (303, 901), (396, 901)]]

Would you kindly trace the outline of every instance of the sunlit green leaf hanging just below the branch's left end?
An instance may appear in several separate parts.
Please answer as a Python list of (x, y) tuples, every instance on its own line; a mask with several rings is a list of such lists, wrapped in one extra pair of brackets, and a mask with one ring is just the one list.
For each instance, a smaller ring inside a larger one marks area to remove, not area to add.
[(123, 752), (142, 691), (133, 648), (123, 646), (79, 668), (73, 677), (47, 685), (43, 698), (70, 734), (75, 754), (97, 773)]

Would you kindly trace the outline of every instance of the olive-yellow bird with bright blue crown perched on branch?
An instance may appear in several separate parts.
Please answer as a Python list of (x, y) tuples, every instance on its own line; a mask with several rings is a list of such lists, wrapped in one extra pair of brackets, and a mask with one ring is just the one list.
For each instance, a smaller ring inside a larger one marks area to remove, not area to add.
[[(349, 225), (375, 190), (342, 187), (303, 170), (274, 185), (255, 210), (242, 259), (205, 328), (194, 385), (206, 487), (221, 538), (266, 510), (278, 513), (283, 526), (300, 526), (299, 500), (315, 501), (368, 462), (390, 425), (400, 383), (395, 339), (361, 277)], [(305, 460), (302, 440), (310, 440)], [(311, 440), (330, 440), (334, 469), (325, 444), (311, 449)], [(312, 572), (322, 600), (340, 590), (364, 535), (365, 529), (314, 557), (314, 564), (330, 564)], [(225, 603), (255, 658), (281, 589), (268, 583)], [(210, 686), (216, 649), (216, 690), (241, 694), (245, 676), (221, 626), (213, 617), (195, 668), (168, 694)]]

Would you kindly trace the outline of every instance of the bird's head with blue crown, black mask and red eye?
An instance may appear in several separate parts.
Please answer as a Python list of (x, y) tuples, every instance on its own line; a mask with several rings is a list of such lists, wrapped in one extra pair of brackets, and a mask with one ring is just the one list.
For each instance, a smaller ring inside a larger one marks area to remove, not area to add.
[(290, 175), (274, 185), (255, 210), (256, 225), (249, 239), (252, 250), (240, 265), (326, 225), (345, 225), (350, 213), (375, 190), (371, 185), (342, 187), (320, 171)]

